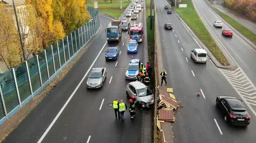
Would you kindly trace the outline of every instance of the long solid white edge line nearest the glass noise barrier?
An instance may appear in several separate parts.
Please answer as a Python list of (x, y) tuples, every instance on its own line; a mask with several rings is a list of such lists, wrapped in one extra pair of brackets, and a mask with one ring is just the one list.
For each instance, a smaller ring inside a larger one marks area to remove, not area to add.
[(90, 68), (87, 70), (87, 72), (84, 74), (84, 77), (82, 78), (82, 80), (78, 83), (77, 87), (75, 88), (75, 90), (72, 92), (72, 94), (69, 96), (67, 102), (62, 106), (61, 110), (59, 111), (59, 113), (54, 117), (53, 121), (51, 122), (51, 124), (49, 125), (49, 127), (45, 130), (44, 134), (42, 135), (42, 137), (37, 141), (37, 143), (41, 143), (43, 141), (43, 139), (45, 138), (46, 134), (51, 130), (53, 124), (58, 120), (60, 114), (64, 111), (64, 109), (66, 108), (66, 106), (68, 105), (68, 103), (70, 102), (70, 100), (72, 99), (72, 97), (75, 95), (76, 91), (78, 90), (78, 88), (82, 85), (84, 79), (86, 78), (87, 74), (89, 73), (89, 71), (92, 69), (92, 66), (94, 65), (94, 63), (97, 61), (98, 57), (100, 56), (100, 53), (103, 51), (104, 47), (106, 46), (106, 43), (103, 45), (103, 47), (101, 48), (99, 54), (96, 56), (96, 58), (94, 59), (94, 61), (92, 62)]

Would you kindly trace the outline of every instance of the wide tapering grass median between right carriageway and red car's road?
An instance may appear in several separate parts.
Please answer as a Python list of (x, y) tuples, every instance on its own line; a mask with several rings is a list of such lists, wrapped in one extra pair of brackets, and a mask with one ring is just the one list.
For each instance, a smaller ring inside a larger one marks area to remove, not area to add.
[(195, 32), (196, 36), (211, 51), (213, 56), (222, 64), (229, 65), (227, 58), (223, 55), (210, 33), (204, 27), (203, 22), (197, 15), (191, 0), (182, 0), (182, 4), (187, 4), (187, 8), (174, 8), (188, 26)]

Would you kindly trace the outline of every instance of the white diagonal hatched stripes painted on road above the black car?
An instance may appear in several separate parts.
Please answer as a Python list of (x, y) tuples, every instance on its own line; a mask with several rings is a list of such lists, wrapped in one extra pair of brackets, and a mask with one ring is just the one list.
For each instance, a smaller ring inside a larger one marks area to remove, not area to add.
[(250, 105), (256, 106), (256, 87), (246, 76), (242, 69), (237, 68), (234, 71), (220, 69), (221, 73), (227, 78), (243, 100)]

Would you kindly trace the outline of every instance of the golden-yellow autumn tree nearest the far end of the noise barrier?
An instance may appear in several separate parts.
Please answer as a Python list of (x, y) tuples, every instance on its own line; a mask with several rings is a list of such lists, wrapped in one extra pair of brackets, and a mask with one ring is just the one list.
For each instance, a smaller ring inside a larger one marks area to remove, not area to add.
[(62, 23), (66, 34), (91, 19), (85, 0), (53, 0), (52, 7), (54, 20)]

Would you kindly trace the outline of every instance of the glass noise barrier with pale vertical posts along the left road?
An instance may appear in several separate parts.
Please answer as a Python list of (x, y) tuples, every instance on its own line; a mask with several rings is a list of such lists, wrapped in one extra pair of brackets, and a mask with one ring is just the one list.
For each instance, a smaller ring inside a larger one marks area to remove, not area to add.
[(100, 29), (100, 13), (38, 55), (0, 75), (0, 125), (39, 94), (86, 46)]

